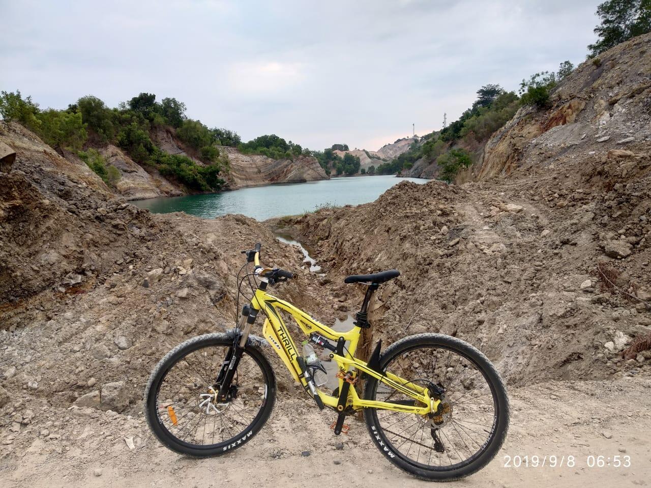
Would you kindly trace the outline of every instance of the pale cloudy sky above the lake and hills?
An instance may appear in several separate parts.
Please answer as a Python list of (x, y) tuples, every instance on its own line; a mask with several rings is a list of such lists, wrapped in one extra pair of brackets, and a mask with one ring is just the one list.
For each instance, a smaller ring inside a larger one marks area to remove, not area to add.
[(0, 0), (0, 90), (42, 108), (140, 92), (311, 149), (376, 150), (477, 88), (585, 61), (602, 0)]

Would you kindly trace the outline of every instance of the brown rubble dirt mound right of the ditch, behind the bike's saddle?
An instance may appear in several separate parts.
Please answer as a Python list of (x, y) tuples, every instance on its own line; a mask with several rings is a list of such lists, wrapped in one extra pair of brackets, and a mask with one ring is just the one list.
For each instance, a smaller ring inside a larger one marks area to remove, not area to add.
[[(490, 185), (401, 183), (291, 224), (331, 274), (401, 271), (372, 306), (372, 340), (460, 336), (517, 384), (635, 375), (647, 358), (620, 352), (651, 332), (650, 183), (648, 156), (610, 152)], [(338, 290), (345, 309), (359, 299)]]

